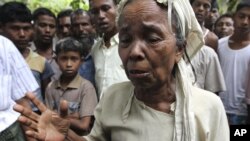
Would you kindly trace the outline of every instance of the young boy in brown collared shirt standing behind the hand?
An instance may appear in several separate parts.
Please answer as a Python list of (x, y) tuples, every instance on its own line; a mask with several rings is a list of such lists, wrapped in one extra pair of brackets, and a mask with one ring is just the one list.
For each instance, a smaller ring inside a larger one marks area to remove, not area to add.
[(57, 63), (62, 74), (48, 85), (45, 93), (46, 105), (54, 111), (59, 111), (60, 100), (68, 101), (70, 128), (78, 135), (86, 135), (90, 130), (97, 105), (95, 88), (78, 74), (84, 57), (82, 46), (84, 44), (70, 37), (57, 43)]

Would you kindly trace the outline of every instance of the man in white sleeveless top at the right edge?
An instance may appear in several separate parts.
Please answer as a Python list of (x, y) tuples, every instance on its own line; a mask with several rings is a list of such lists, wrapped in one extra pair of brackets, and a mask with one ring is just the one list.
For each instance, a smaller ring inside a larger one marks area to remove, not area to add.
[[(250, 104), (250, 1), (242, 1), (233, 16), (234, 33), (219, 40), (218, 55), (227, 91), (219, 95), (230, 125), (247, 123)], [(246, 99), (245, 99), (246, 98)]]

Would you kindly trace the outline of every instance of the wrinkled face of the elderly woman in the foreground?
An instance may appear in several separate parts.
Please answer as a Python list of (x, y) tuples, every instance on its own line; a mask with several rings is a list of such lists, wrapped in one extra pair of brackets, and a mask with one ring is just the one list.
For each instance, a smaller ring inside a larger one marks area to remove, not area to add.
[(156, 89), (166, 84), (182, 56), (166, 10), (153, 0), (135, 0), (125, 6), (120, 17), (119, 55), (136, 87)]

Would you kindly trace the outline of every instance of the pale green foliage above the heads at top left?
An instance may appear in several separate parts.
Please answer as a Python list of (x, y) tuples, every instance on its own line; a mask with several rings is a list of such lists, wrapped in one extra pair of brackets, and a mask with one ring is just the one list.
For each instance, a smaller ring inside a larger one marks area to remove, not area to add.
[(34, 11), (39, 7), (46, 7), (56, 15), (64, 9), (89, 9), (89, 6), (85, 2), (85, 0), (1, 0), (0, 4), (4, 4), (10, 1), (23, 2), (31, 9), (31, 11)]

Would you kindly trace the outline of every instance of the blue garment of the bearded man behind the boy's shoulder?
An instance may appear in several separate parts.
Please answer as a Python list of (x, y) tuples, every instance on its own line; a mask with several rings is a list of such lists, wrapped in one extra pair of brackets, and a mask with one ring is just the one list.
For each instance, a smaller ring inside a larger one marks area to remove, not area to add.
[(95, 87), (95, 65), (92, 56), (89, 54), (79, 68), (79, 74), (89, 80)]

